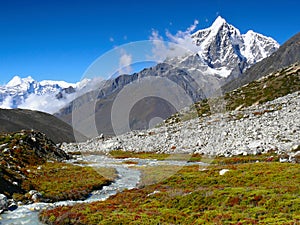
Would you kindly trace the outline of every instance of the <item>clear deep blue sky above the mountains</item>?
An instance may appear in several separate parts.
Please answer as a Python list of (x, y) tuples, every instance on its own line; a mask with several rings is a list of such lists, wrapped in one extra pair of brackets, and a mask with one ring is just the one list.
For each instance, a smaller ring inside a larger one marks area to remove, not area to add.
[(197, 29), (221, 15), (242, 33), (280, 44), (300, 31), (298, 0), (0, 0), (0, 85), (14, 75), (79, 81), (99, 56), (128, 42)]

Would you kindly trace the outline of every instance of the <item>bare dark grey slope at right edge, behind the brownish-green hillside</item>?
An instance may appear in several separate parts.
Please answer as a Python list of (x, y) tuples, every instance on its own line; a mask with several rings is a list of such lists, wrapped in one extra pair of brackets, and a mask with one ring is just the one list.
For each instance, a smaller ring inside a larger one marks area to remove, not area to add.
[(300, 62), (300, 33), (297, 33), (285, 42), (270, 57), (267, 57), (254, 66), (250, 67), (236, 79), (230, 79), (222, 87), (223, 91), (228, 92), (247, 84), (253, 80), (261, 78), (280, 68)]

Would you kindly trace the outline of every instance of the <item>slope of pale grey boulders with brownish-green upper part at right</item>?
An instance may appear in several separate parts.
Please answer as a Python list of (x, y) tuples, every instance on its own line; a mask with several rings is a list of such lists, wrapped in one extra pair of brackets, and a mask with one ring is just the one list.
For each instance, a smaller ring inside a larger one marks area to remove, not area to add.
[[(252, 102), (250, 106), (240, 105), (243, 102), (239, 103), (239, 98), (236, 98), (233, 100), (236, 107), (232, 111), (202, 115), (187, 121), (168, 120), (166, 126), (142, 132), (133, 131), (106, 140), (95, 138), (80, 143), (78, 148), (83, 152), (123, 149), (225, 156), (275, 151), (287, 154), (282, 156), (283, 161), (298, 162), (299, 76), (299, 65), (293, 65), (229, 93), (235, 97), (240, 96), (244, 102)], [(283, 83), (294, 88), (283, 88)], [(262, 98), (257, 93), (261, 91), (261, 85), (266, 93), (272, 91), (279, 94), (273, 96), (269, 93), (268, 98)], [(281, 89), (285, 91), (281, 92)], [(260, 104), (260, 100), (265, 103)], [(230, 107), (233, 102), (230, 102)], [(66, 151), (77, 151), (78, 148), (76, 144), (63, 146)]]

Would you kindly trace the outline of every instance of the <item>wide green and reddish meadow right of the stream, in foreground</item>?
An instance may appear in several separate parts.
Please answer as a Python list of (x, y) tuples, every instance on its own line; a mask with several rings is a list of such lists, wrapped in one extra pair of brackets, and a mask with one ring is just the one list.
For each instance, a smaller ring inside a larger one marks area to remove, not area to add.
[[(43, 211), (40, 218), (47, 224), (87, 225), (299, 224), (300, 165), (253, 157), (219, 158), (207, 170), (183, 167), (156, 184), (124, 191), (104, 202)], [(229, 172), (219, 175), (224, 168)], [(144, 169), (148, 174), (155, 170)]]

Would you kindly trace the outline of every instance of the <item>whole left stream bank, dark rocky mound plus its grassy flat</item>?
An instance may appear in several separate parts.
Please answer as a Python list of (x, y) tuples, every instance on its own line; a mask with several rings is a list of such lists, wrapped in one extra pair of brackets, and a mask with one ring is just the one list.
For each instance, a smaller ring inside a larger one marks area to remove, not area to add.
[(78, 200), (116, 177), (114, 169), (61, 162), (67, 158), (41, 133), (0, 134), (0, 193), (24, 203), (30, 190), (42, 193), (41, 201)]

